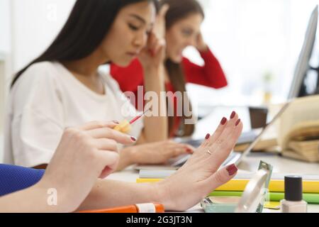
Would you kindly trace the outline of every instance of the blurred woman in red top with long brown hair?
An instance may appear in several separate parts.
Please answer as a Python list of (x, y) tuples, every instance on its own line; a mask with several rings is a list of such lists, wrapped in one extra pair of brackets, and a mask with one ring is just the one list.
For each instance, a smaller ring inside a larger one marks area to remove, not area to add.
[[(186, 83), (201, 84), (215, 89), (227, 86), (228, 83), (220, 63), (203, 41), (200, 26), (204, 13), (198, 1), (162, 0), (161, 4), (169, 5), (165, 17), (165, 39), (167, 42), (165, 85), (167, 92), (186, 92)], [(203, 67), (182, 56), (183, 50), (189, 45), (194, 46), (201, 54), (205, 62)], [(138, 96), (138, 86), (144, 85), (142, 65), (138, 59), (135, 59), (129, 67), (125, 68), (111, 65), (111, 75), (118, 81), (123, 92), (134, 92), (137, 99), (141, 100), (143, 98)], [(127, 77), (127, 75), (130, 75), (130, 77)], [(168, 106), (168, 109), (174, 108), (174, 116), (168, 117), (169, 136), (191, 135), (194, 132), (194, 124), (186, 124), (182, 120), (192, 116), (186, 116), (184, 111), (182, 116), (178, 116), (177, 100), (172, 99), (171, 106)], [(189, 103), (189, 99), (187, 97), (186, 99), (183, 100), (183, 103), (184, 101)], [(135, 106), (140, 107), (138, 106), (138, 100), (135, 101)], [(142, 111), (142, 109), (138, 109)]]

